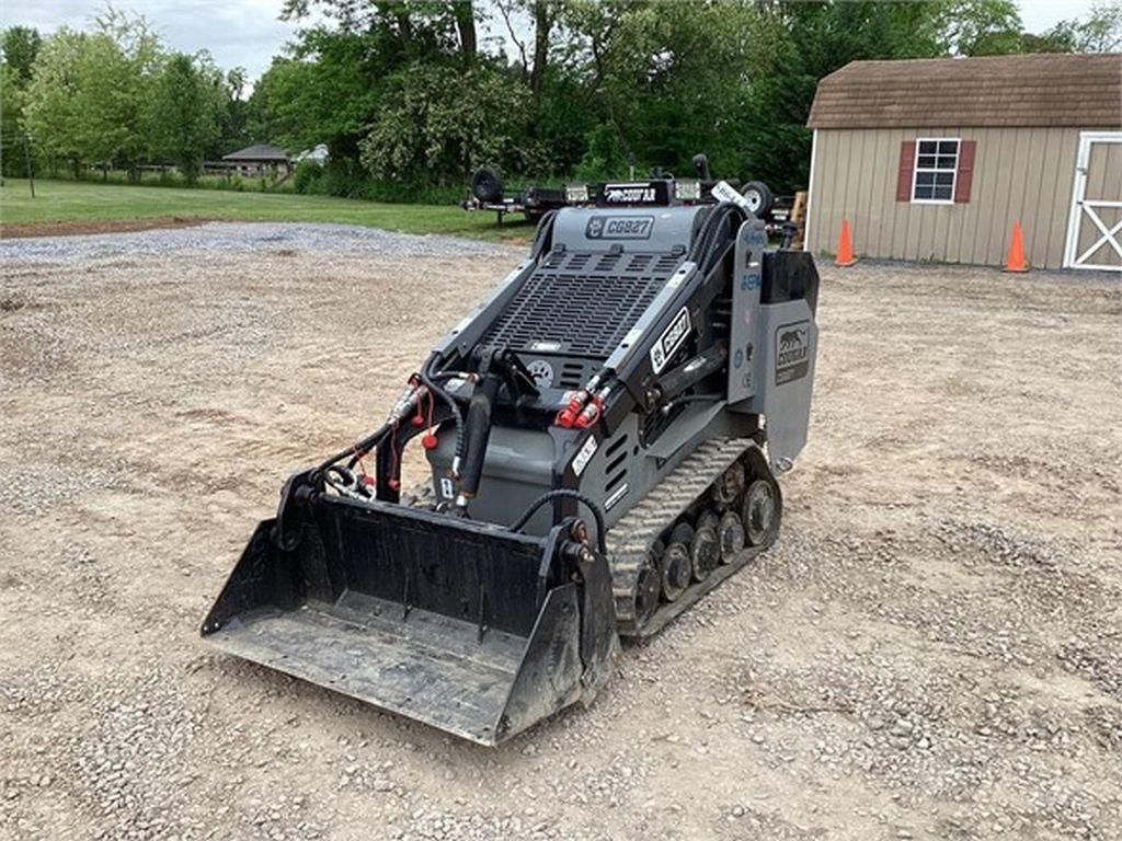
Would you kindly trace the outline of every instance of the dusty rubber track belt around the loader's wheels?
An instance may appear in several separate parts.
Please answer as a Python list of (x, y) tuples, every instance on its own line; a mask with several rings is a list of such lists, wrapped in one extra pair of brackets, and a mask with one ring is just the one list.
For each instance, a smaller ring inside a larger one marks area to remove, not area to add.
[(718, 566), (705, 581), (691, 584), (678, 600), (660, 604), (642, 627), (636, 627), (635, 588), (640, 571), (646, 563), (647, 549), (668, 526), (709, 490), (729, 464), (753, 446), (756, 444), (752, 438), (707, 441), (608, 530), (608, 562), (622, 636), (646, 637), (656, 632), (758, 554), (752, 549), (742, 552), (733, 563)]

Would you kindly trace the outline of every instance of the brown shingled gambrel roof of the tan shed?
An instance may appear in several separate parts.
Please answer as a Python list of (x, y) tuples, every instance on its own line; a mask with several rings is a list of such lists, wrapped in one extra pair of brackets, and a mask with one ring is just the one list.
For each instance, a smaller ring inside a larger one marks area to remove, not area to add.
[(850, 62), (818, 83), (815, 129), (1122, 126), (1122, 55)]

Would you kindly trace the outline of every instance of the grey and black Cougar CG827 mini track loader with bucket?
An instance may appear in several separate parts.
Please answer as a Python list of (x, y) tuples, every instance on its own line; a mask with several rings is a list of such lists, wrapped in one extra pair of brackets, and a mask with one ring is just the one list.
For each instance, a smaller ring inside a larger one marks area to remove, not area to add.
[[(605, 184), (546, 215), (385, 424), (288, 479), (203, 636), (496, 745), (772, 545), (818, 274), (728, 185), (677, 192)], [(404, 493), (416, 438), (431, 482)]]

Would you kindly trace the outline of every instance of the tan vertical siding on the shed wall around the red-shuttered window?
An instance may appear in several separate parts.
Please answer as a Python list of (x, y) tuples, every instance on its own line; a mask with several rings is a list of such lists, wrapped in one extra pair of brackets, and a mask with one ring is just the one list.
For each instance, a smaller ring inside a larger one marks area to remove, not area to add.
[[(845, 218), (857, 255), (1000, 266), (1013, 222), (1020, 220), (1030, 264), (1063, 264), (1079, 129), (820, 128), (817, 137), (809, 222), (816, 251), (836, 250)], [(896, 202), (900, 144), (918, 137), (977, 141), (969, 202)], [(1116, 167), (1122, 157), (1104, 163), (1088, 191), (1107, 188), (1122, 172)]]

